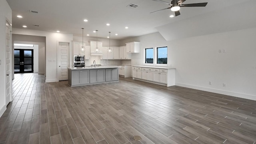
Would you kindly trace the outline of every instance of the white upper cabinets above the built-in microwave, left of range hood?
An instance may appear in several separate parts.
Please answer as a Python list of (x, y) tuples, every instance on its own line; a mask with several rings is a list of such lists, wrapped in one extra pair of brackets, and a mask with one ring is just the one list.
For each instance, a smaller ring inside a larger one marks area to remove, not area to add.
[(84, 51), (81, 51), (82, 42), (73, 42), (73, 54), (84, 55), (84, 58), (88, 60), (90, 58), (90, 46), (86, 46), (84, 43)]

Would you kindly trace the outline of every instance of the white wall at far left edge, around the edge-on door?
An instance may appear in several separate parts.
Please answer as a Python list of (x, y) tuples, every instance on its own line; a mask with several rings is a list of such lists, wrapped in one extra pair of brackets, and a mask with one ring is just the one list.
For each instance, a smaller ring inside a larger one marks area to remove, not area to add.
[(0, 116), (6, 110), (6, 20), (12, 23), (12, 10), (6, 0), (0, 0)]

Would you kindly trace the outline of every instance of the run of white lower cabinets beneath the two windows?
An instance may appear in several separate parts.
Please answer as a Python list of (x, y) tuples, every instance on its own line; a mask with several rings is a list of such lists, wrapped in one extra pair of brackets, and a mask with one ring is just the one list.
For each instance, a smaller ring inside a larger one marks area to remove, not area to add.
[[(138, 70), (142, 69), (142, 70)], [(140, 76), (140, 74), (142, 74)], [(150, 68), (150, 67), (132, 67), (133, 79), (142, 79), (146, 82), (160, 84), (164, 86), (173, 86), (175, 84), (175, 68)]]

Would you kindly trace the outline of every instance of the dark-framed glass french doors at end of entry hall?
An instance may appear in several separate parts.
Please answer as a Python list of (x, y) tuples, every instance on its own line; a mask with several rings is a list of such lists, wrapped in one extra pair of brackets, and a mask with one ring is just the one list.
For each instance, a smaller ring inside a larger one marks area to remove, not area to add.
[(14, 73), (34, 72), (33, 50), (14, 49)]

